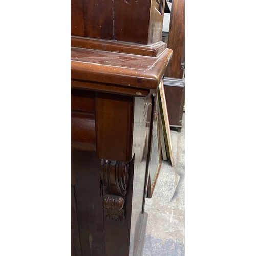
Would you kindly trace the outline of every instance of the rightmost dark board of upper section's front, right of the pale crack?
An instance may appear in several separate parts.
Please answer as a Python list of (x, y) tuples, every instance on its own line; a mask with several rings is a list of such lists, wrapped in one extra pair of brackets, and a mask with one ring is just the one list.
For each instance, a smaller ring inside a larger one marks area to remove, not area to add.
[(151, 0), (115, 1), (115, 40), (147, 45), (150, 5)]

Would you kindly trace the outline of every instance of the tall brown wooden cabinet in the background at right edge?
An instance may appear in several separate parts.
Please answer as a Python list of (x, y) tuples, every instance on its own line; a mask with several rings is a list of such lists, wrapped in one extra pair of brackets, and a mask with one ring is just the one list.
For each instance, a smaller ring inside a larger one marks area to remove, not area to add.
[(182, 127), (182, 116), (185, 101), (185, 0), (172, 0), (168, 48), (174, 51), (164, 74), (164, 90), (170, 127)]

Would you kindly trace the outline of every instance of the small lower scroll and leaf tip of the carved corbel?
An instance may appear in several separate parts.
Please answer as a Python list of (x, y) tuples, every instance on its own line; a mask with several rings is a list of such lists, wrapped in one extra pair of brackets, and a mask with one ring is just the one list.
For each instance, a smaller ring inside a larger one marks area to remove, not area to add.
[(106, 194), (103, 206), (106, 209), (106, 219), (120, 220), (124, 222), (124, 198), (120, 196)]

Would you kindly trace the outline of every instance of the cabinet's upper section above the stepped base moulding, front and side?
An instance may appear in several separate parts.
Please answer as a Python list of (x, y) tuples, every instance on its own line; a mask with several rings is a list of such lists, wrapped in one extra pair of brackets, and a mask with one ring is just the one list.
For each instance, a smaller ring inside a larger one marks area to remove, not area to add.
[(161, 41), (164, 0), (71, 0), (71, 35), (153, 44)]

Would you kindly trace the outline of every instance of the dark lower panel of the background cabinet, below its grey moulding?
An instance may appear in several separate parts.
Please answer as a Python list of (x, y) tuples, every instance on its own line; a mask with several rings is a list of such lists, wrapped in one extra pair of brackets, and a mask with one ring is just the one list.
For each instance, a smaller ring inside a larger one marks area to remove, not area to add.
[(181, 127), (185, 99), (185, 87), (164, 86), (169, 123)]

